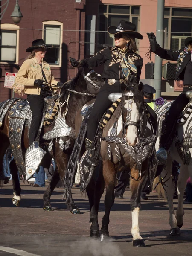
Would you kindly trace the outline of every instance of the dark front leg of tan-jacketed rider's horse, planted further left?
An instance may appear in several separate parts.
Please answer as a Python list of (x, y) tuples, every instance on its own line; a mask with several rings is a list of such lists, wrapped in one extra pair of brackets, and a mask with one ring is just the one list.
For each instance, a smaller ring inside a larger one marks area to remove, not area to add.
[(44, 192), (44, 196), (43, 196), (43, 201), (44, 201), (43, 209), (44, 209), (44, 211), (51, 211), (52, 210), (52, 207), (50, 205), (50, 198), (51, 198), (52, 192), (55, 189), (55, 186), (57, 185), (59, 180), (60, 180), (60, 176), (59, 176), (59, 172), (58, 172), (58, 167), (56, 167), (55, 171), (53, 173), (53, 176), (52, 176), (52, 180), (51, 180), (48, 188)]

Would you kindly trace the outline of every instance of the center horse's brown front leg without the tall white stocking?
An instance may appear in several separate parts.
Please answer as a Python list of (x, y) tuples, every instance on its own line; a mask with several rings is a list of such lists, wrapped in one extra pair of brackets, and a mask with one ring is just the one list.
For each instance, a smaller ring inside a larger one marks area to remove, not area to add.
[(103, 177), (105, 180), (106, 194), (105, 194), (105, 215), (102, 218), (102, 228), (100, 230), (101, 241), (109, 236), (109, 214), (111, 207), (115, 201), (114, 187), (116, 180), (116, 170), (110, 160), (103, 161)]

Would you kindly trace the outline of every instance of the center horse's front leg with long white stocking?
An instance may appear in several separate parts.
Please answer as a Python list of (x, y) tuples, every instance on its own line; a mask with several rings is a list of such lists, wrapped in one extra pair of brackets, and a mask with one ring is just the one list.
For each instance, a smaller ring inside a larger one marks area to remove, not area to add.
[[(147, 166), (148, 167), (148, 166)], [(142, 169), (147, 170), (146, 166), (142, 165)], [(131, 175), (135, 179), (138, 179), (139, 172), (136, 165), (131, 168)], [(139, 212), (141, 208), (141, 189), (142, 185), (145, 181), (147, 176), (143, 176), (139, 180), (130, 179), (130, 189), (131, 189), (131, 215), (132, 215), (132, 228), (131, 234), (133, 236), (133, 246), (134, 247), (145, 247), (145, 243), (143, 238), (140, 236), (140, 229), (139, 229)]]

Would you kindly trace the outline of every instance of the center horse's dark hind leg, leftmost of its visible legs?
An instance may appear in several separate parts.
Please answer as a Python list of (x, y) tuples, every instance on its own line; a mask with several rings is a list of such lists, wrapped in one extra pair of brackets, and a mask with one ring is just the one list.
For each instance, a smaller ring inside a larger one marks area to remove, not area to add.
[[(99, 236), (99, 224), (98, 224), (98, 211), (99, 211), (99, 202), (101, 196), (104, 192), (105, 181), (102, 175), (101, 165), (96, 167), (93, 173), (91, 182), (87, 186), (86, 192), (89, 198), (90, 204), (90, 236), (98, 237)], [(96, 177), (97, 176), (97, 177)]]

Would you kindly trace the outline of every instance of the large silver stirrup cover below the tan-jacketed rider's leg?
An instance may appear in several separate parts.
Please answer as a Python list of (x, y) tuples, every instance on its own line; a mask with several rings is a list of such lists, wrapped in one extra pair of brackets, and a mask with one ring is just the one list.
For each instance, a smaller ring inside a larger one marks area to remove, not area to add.
[(39, 147), (38, 141), (34, 141), (25, 153), (25, 164), (26, 164), (26, 180), (29, 180), (32, 175), (38, 169), (42, 158), (46, 154), (42, 148)]

